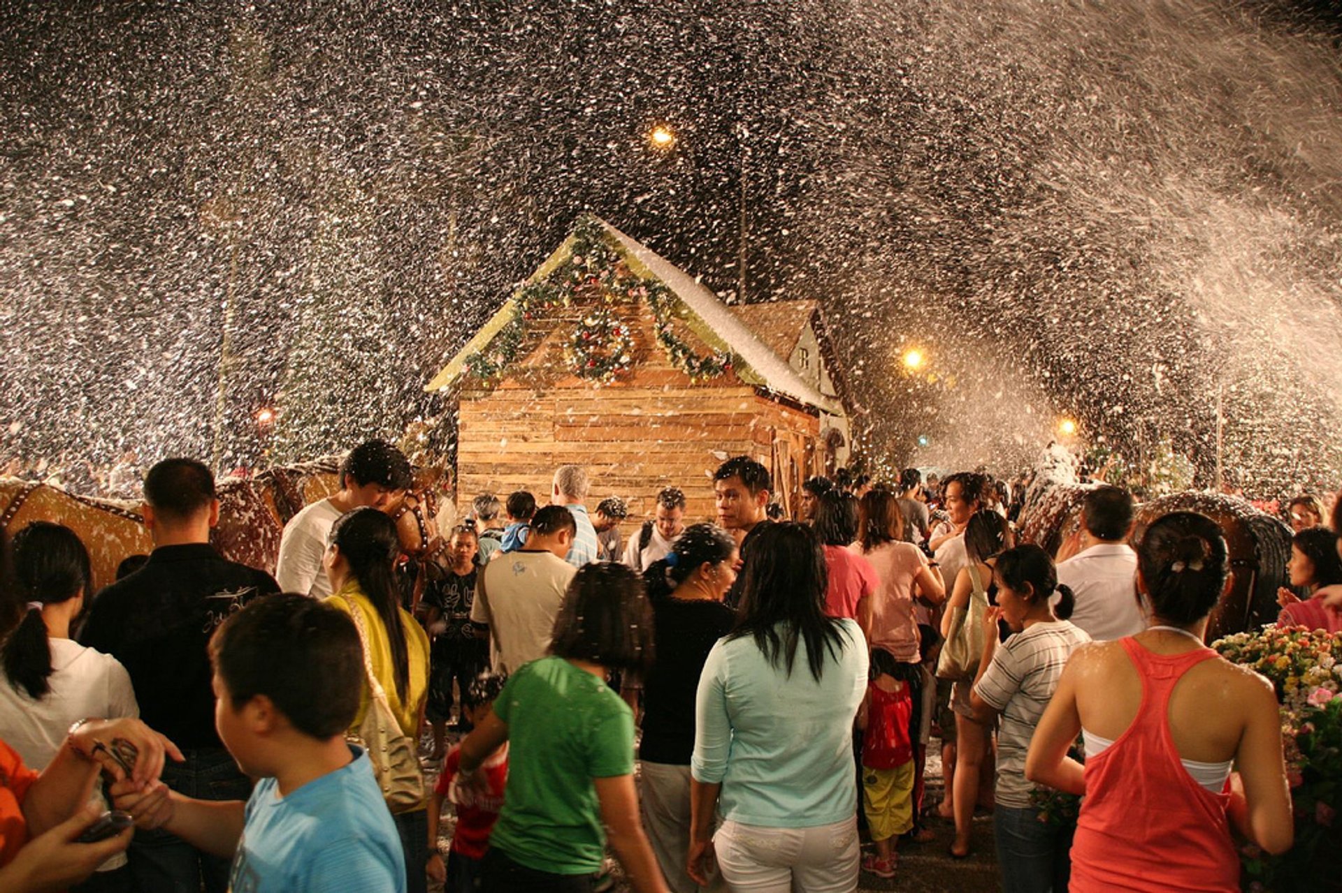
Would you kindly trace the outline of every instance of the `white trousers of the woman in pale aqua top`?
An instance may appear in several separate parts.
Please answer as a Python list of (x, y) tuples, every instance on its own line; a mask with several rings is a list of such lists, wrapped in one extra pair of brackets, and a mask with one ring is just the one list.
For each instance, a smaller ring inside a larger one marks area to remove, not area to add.
[(858, 889), (858, 817), (815, 827), (723, 822), (713, 838), (730, 890), (852, 893)]

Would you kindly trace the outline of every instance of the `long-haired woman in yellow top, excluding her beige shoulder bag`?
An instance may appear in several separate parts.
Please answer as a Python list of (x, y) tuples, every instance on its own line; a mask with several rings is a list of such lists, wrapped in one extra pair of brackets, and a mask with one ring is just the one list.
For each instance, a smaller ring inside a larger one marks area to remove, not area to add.
[[(419, 740), (420, 719), (428, 696), (428, 636), (401, 607), (396, 589), (400, 540), (396, 523), (376, 508), (356, 508), (331, 526), (326, 546), (326, 575), (334, 593), (329, 603), (358, 611), (368, 633), (373, 674), (411, 741)], [(352, 729), (364, 721), (372, 692), (364, 685)], [(424, 893), (428, 859), (428, 803), (393, 814), (405, 850), (408, 893)]]

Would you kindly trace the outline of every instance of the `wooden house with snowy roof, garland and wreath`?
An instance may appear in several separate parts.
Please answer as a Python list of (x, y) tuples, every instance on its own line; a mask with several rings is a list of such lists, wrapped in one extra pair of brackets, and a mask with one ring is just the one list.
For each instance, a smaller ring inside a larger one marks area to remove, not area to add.
[(714, 518), (711, 475), (758, 459), (789, 511), (848, 456), (845, 392), (815, 302), (729, 307), (692, 276), (588, 217), (429, 382), (458, 401), (458, 492), (546, 501), (574, 463), (631, 518), (679, 487)]

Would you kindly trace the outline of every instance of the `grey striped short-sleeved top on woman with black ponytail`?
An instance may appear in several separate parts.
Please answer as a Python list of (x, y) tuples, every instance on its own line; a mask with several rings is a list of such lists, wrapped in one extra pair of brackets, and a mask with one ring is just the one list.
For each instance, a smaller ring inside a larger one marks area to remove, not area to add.
[(1024, 809), (1033, 784), (1025, 780), (1025, 751), (1044, 708), (1057, 689), (1067, 658), (1091, 641), (1067, 621), (1035, 623), (1009, 636), (993, 652), (993, 662), (974, 692), (1002, 715), (997, 731), (997, 802)]

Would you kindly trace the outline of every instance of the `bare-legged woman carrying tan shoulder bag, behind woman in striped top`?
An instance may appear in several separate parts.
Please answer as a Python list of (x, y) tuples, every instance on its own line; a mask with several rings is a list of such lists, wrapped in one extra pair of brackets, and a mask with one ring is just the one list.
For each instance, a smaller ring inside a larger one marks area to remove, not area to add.
[(969, 691), (984, 653), (984, 637), (997, 636), (996, 629), (985, 629), (984, 623), (993, 563), (997, 555), (1012, 544), (1013, 536), (1005, 518), (988, 508), (981, 508), (970, 516), (965, 527), (965, 554), (969, 564), (956, 577), (956, 587), (941, 618), (941, 632), (946, 637), (946, 644), (937, 662), (937, 676), (956, 682), (950, 691), (957, 739), (956, 778), (951, 782), (950, 800), (956, 814), (956, 842), (950, 845), (950, 854), (957, 859), (969, 855), (969, 833), (974, 818), (974, 803), (978, 799), (980, 767), (992, 741), (992, 731), (974, 721)]

